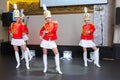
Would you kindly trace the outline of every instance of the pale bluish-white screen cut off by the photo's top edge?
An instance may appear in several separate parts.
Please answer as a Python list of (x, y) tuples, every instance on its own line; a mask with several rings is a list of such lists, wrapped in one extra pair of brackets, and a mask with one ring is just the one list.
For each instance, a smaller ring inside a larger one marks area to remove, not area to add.
[(67, 6), (67, 5), (86, 5), (86, 4), (106, 4), (108, 0), (40, 0), (40, 6)]

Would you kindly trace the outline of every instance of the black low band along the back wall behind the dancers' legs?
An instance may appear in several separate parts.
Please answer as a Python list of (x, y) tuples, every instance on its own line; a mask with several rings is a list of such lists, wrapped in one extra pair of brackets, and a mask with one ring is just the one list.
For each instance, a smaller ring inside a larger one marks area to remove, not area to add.
[[(39, 45), (27, 45), (30, 50), (35, 50), (36, 57), (42, 57), (42, 48)], [(113, 47), (108, 46), (98, 46), (100, 49), (100, 59), (103, 58), (112, 58), (115, 59), (115, 54), (113, 52)], [(60, 53), (60, 57), (63, 56), (64, 51), (72, 51), (72, 57), (82, 57), (83, 50), (80, 46), (73, 45), (58, 45), (58, 50)], [(89, 53), (93, 51), (91, 48), (88, 48), (88, 57)], [(1, 43), (1, 54), (3, 55), (13, 55), (14, 50), (10, 42), (2, 42)], [(48, 50), (48, 56), (54, 56), (52, 50)]]

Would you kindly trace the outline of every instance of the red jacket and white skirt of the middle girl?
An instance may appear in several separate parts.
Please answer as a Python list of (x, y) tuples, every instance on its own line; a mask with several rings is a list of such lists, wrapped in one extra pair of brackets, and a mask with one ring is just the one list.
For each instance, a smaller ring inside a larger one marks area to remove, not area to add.
[(43, 40), (40, 44), (41, 47), (48, 49), (57, 47), (56, 43), (54, 42), (55, 40), (57, 40), (57, 28), (57, 21), (52, 21), (51, 23), (46, 23), (42, 26), (39, 32), (39, 35), (43, 36)]

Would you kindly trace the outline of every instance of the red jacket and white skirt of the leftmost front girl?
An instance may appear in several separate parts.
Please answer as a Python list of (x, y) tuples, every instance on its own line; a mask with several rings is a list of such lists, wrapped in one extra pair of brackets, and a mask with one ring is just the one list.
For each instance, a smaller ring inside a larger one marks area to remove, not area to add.
[(21, 22), (13, 22), (9, 27), (8, 31), (12, 37), (12, 45), (21, 46), (25, 44), (24, 40), (22, 39), (25, 29), (24, 25)]

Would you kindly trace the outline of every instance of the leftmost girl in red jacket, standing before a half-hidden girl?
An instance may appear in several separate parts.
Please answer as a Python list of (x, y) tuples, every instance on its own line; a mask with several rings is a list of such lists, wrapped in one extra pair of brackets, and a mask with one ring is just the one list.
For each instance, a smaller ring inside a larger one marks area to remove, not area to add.
[[(16, 6), (16, 4), (14, 4)], [(15, 51), (15, 58), (17, 61), (16, 68), (19, 68), (20, 66), (20, 57), (18, 53), (18, 46), (21, 47), (21, 49), (24, 51), (25, 54), (25, 61), (26, 61), (26, 68), (30, 69), (29, 67), (29, 60), (28, 60), (28, 54), (26, 50), (26, 43), (23, 40), (23, 34), (25, 33), (25, 29), (23, 28), (24, 25), (21, 22), (19, 10), (15, 7), (14, 10), (14, 17), (16, 19), (16, 22), (11, 23), (11, 26), (9, 27), (9, 34), (12, 37), (11, 44), (13, 45), (14, 51)]]

